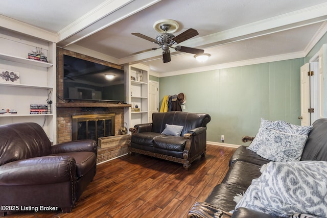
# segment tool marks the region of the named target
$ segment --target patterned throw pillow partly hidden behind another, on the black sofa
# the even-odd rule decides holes
[[[262,139],[268,134],[268,130],[276,130],[283,133],[295,134],[295,135],[307,135],[310,133],[312,126],[298,126],[294,124],[289,124],[283,120],[270,121],[261,118],[261,124],[258,134],[256,134],[252,143],[247,149],[253,152],[258,152],[259,148],[265,146],[265,141]]]

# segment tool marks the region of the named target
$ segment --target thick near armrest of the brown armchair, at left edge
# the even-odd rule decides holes
[[[75,160],[69,156],[42,156],[0,166],[0,185],[38,185],[75,178]]]

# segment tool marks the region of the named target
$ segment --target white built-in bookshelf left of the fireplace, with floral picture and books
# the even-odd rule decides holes
[[[0,114],[0,125],[37,123],[56,144],[56,43],[4,32],[0,44],[0,74],[3,75],[0,77],[0,109],[17,112]],[[34,57],[39,60],[29,59],[38,56],[34,53],[35,47],[41,47],[41,53],[44,54],[44,57]],[[7,80],[7,71],[9,76],[13,72],[19,79]],[[50,101],[51,111],[31,111],[31,104],[46,104]]]

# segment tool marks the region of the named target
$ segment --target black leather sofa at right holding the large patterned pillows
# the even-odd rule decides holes
[[[243,141],[253,138],[246,137]],[[327,118],[314,122],[300,160],[327,161]],[[268,162],[269,160],[246,149],[246,146],[239,147],[229,161],[229,170],[222,183],[212,190],[205,202],[197,202],[188,217],[277,218],[278,216],[242,207],[237,208],[232,214],[228,212],[236,206],[233,197],[244,193],[252,179],[261,176],[261,166]]]

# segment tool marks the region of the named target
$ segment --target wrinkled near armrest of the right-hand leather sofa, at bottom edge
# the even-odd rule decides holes
[[[230,218],[230,216],[231,213],[220,210],[219,208],[206,202],[196,202],[188,214],[188,218]]]

